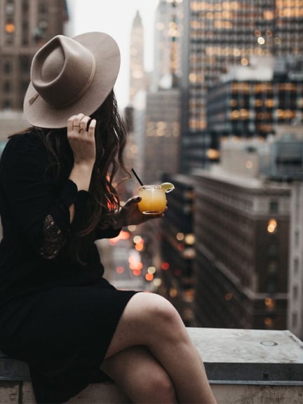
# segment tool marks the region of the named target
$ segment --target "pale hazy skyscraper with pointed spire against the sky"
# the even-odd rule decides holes
[[[142,19],[137,11],[133,20],[130,34],[130,87],[129,99],[133,104],[135,95],[140,90],[145,90],[146,79],[144,72],[144,30]]]

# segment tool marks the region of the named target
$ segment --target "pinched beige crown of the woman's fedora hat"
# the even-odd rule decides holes
[[[94,74],[93,53],[63,35],[46,43],[32,60],[32,85],[54,108],[67,107],[79,100],[86,93]]]

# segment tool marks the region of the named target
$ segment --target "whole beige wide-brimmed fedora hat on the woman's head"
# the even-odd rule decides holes
[[[74,114],[90,115],[114,87],[119,47],[108,34],[54,36],[32,60],[23,111],[40,128],[64,128]]]

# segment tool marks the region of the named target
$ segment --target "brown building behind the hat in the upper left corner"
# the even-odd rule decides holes
[[[0,0],[0,110],[22,110],[32,57],[63,33],[66,0]]]

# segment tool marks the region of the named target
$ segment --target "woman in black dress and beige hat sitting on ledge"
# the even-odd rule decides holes
[[[170,303],[103,277],[94,241],[146,220],[139,197],[119,208],[113,185],[126,143],[119,65],[100,32],[55,36],[33,58],[32,127],[11,137],[0,163],[1,348],[29,364],[38,403],[106,379],[135,403],[215,403]]]

